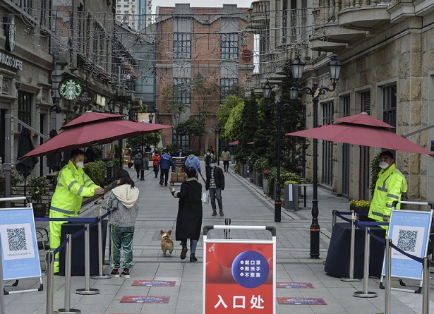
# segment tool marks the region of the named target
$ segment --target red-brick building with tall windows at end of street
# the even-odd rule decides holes
[[[247,8],[236,5],[157,7],[156,108],[162,123],[174,126],[163,131],[163,145],[176,143],[200,152],[215,146],[212,125],[219,104],[232,85],[245,87],[253,74],[247,18]],[[190,116],[205,125],[205,136],[192,143],[188,135],[176,134],[176,126]]]

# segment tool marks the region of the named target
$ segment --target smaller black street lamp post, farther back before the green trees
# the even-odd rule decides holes
[[[270,101],[272,86],[270,82],[265,83],[263,87],[263,97],[265,101]],[[282,111],[287,104],[283,102],[276,102],[272,104],[277,112],[277,178],[276,178],[276,199],[275,199],[275,222],[280,222],[282,219],[282,200],[280,198],[280,121],[282,118]]]

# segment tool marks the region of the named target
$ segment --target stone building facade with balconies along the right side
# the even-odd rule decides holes
[[[327,63],[332,52],[338,54],[339,83],[334,92],[320,96],[318,123],[366,111],[395,126],[399,135],[415,132],[409,140],[434,149],[434,128],[429,128],[434,124],[431,1],[255,1],[251,13],[256,20],[263,17],[255,11],[260,6],[275,14],[270,23],[280,37],[270,37],[269,44],[277,50],[284,47],[280,61],[291,61],[296,54],[306,61],[301,85],[331,86]],[[289,34],[285,45],[279,40],[283,33]],[[276,72],[261,75],[277,77]],[[312,128],[312,98],[302,93],[301,100],[306,104],[306,128]],[[370,200],[370,161],[378,152],[376,147],[320,140],[318,182],[351,199]],[[312,179],[312,145],[306,154],[306,176]],[[409,182],[406,199],[432,200],[433,158],[397,152],[395,159]]]

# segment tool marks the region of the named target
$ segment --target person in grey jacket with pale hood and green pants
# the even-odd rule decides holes
[[[109,227],[111,236],[111,276],[129,278],[133,267],[134,224],[138,215],[139,191],[128,171],[119,169],[116,173],[118,186],[111,190],[107,202],[102,208],[110,212]],[[98,200],[97,203],[101,203]],[[121,250],[123,249],[123,265],[121,268]]]

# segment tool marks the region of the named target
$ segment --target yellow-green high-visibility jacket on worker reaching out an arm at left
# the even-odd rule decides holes
[[[70,160],[59,172],[56,191],[54,191],[50,211],[76,216],[80,212],[83,197],[95,194],[100,188],[89,178],[82,168],[74,166]]]

